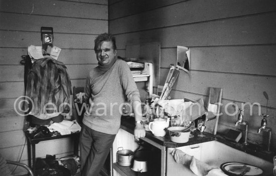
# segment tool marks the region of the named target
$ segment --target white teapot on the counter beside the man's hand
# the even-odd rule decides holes
[[[155,136],[165,136],[169,122],[170,118],[156,118],[153,122],[149,123],[149,129]]]

